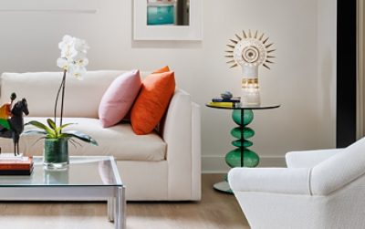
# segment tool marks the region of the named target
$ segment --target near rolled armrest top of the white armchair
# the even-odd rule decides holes
[[[310,195],[309,168],[234,168],[228,182],[234,192]]]

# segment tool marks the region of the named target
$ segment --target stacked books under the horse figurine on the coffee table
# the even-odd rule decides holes
[[[30,175],[33,172],[33,157],[0,155],[0,175]]]

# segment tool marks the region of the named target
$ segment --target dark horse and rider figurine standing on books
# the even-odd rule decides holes
[[[28,115],[28,105],[26,99],[16,102],[13,106],[13,101],[16,99],[16,93],[10,96],[10,103],[6,103],[0,108],[0,137],[13,139],[14,155],[19,155],[19,137],[24,130],[23,113]],[[1,153],[1,148],[0,148]]]

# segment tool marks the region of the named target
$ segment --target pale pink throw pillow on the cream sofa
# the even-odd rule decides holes
[[[126,72],[114,79],[99,104],[99,120],[103,128],[111,127],[124,118],[140,88],[139,70]]]

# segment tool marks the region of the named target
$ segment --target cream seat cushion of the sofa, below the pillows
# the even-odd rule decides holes
[[[47,123],[47,118],[25,117],[25,123],[29,120]],[[120,123],[103,129],[98,119],[63,119],[63,124],[69,122],[77,124],[71,125],[65,128],[65,130],[79,130],[89,134],[99,143],[99,146],[94,146],[78,141],[82,146],[77,147],[69,143],[68,151],[70,155],[112,155],[116,160],[123,161],[165,160],[166,143],[156,132],[147,135],[137,135],[131,130],[129,123]],[[59,120],[57,120],[57,123],[59,125]],[[34,129],[34,127],[27,125],[26,130],[28,129]],[[38,141],[34,144],[36,139],[39,139],[39,136],[22,136],[20,138],[20,151],[25,151],[26,154],[41,155],[43,141]],[[11,151],[11,149],[9,150]]]

